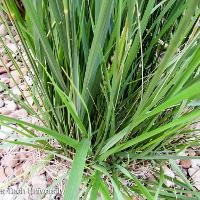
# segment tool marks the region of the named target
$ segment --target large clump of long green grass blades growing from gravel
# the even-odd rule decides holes
[[[11,95],[41,126],[3,115],[0,119],[21,127],[27,135],[24,145],[73,159],[64,199],[78,199],[81,183],[86,186],[84,198],[92,200],[99,194],[119,200],[135,195],[148,200],[186,199],[188,193],[199,199],[175,160],[183,159],[179,152],[199,144],[189,125],[200,116],[200,2],[22,0],[22,4],[23,12],[14,0],[4,0],[0,16],[7,24],[6,13],[23,44],[26,59],[20,56],[30,69],[30,93],[38,111],[26,99]],[[14,66],[21,71],[17,63]],[[56,139],[60,148],[37,131]],[[134,174],[130,166],[136,160],[161,168],[154,181]],[[164,176],[164,161],[179,180]],[[165,179],[175,182],[177,191],[167,188]]]

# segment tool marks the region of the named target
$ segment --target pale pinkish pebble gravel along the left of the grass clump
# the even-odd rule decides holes
[[[33,99],[30,96],[29,88],[32,86],[32,80],[28,73],[27,66],[24,66],[20,59],[20,52],[24,59],[25,53],[22,51],[22,45],[18,36],[11,26],[11,31],[15,36],[17,45],[12,42],[6,28],[0,24],[0,37],[12,53],[15,61],[20,65],[22,75],[19,74],[5,52],[5,48],[0,42],[0,82],[5,84],[11,92],[23,99],[19,88],[30,105],[34,107]],[[11,78],[14,77],[14,80]],[[27,84],[23,80],[26,80]],[[18,88],[19,87],[19,88]],[[24,120],[30,123],[39,123],[37,118],[30,116],[25,109],[17,104],[9,92],[0,86],[0,114],[10,116],[16,119]],[[20,129],[15,124],[7,124]],[[23,139],[22,135],[17,134],[7,126],[0,126],[0,199],[1,200],[48,200],[62,199],[63,183],[57,187],[52,187],[52,183],[66,174],[67,164],[64,161],[51,160],[45,161],[47,154],[32,147],[23,147],[19,145],[10,145],[5,140]],[[65,177],[65,176],[64,176]],[[46,193],[46,195],[45,195]]]

